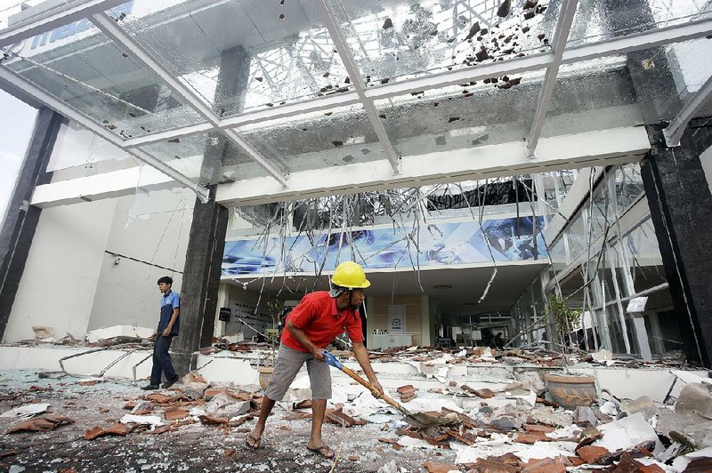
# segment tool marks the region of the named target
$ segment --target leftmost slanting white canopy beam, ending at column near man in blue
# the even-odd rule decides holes
[[[35,97],[37,100],[42,102],[45,106],[52,108],[55,112],[66,116],[67,118],[77,122],[78,124],[81,124],[87,130],[93,132],[100,138],[109,141],[109,143],[116,146],[117,148],[123,149],[129,155],[136,157],[143,163],[155,167],[156,169],[158,169],[158,171],[163,172],[172,179],[182,183],[182,185],[184,185],[185,187],[193,190],[201,200],[207,199],[206,188],[200,186],[194,180],[190,180],[190,178],[186,177],[181,172],[176,171],[171,166],[167,165],[162,161],[159,161],[153,156],[146,154],[140,149],[126,148],[124,140],[122,140],[116,134],[110,132],[100,123],[96,122],[91,116],[86,116],[85,114],[77,111],[75,108],[69,107],[69,105],[67,105],[63,101],[58,100],[48,92],[44,92],[44,90],[40,89],[35,84],[28,82],[24,77],[15,74],[8,68],[0,67],[0,78],[2,78],[5,82],[9,84],[19,87],[24,91],[27,91],[28,93],[32,94],[32,96]]]

